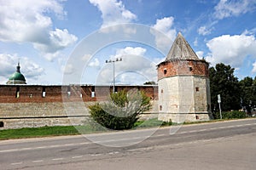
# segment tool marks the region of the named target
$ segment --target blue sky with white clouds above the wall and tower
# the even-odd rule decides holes
[[[0,0],[0,84],[18,62],[27,84],[157,82],[178,32],[210,66],[255,77],[255,17],[256,0]]]

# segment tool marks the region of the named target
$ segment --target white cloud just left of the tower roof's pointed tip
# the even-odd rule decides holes
[[[155,43],[157,48],[160,48],[164,51],[168,51],[171,48],[172,42],[177,36],[177,31],[172,28],[173,21],[174,18],[172,16],[165,17],[163,19],[156,20],[155,25],[152,26],[153,29],[151,29],[150,32],[155,37]],[[160,31],[161,33],[158,31]]]

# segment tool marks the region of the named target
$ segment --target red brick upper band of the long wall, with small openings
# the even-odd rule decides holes
[[[0,85],[0,103],[33,103],[33,102],[65,102],[67,101],[101,101],[108,98],[112,93],[109,86],[44,86],[44,85]],[[151,99],[157,99],[157,86],[116,86],[118,91],[137,88],[144,91]],[[45,90],[45,97],[43,97]],[[19,98],[16,92],[19,91]],[[67,94],[70,91],[70,95]],[[95,97],[91,97],[91,92],[95,92]],[[80,96],[82,94],[82,98]]]

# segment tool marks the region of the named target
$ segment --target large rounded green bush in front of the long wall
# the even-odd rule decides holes
[[[139,114],[151,108],[150,98],[144,93],[124,90],[111,94],[107,102],[91,105],[90,116],[103,127],[114,130],[134,127]]]

